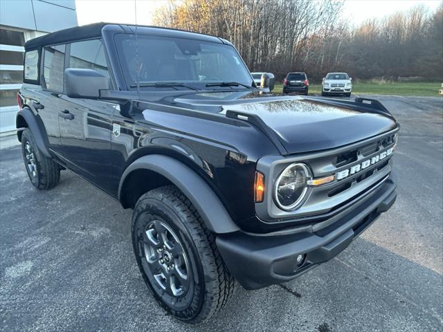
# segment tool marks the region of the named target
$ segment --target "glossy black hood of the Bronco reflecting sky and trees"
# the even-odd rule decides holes
[[[313,99],[235,91],[192,93],[171,102],[174,106],[210,113],[226,114],[230,110],[256,114],[277,134],[289,154],[332,149],[397,127],[389,116]]]

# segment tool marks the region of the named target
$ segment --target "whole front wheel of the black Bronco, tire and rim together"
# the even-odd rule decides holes
[[[235,280],[221,260],[214,234],[177,187],[160,187],[138,199],[132,243],[145,283],[179,320],[208,320],[232,296]]]

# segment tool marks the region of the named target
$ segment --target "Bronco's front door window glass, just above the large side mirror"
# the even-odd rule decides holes
[[[71,53],[69,54],[69,68],[93,69],[109,77],[103,47],[100,39],[72,43]]]

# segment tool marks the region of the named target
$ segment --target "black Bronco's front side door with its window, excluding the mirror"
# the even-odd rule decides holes
[[[73,42],[66,54],[66,68],[89,68],[109,77],[101,39]],[[60,102],[60,135],[67,165],[110,193],[111,118],[116,104],[69,98],[65,94]]]

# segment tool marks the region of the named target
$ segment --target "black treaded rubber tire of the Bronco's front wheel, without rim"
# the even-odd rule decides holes
[[[155,280],[150,281],[154,273],[147,276],[150,273],[150,264],[147,263],[146,249],[143,249],[143,232],[147,232],[146,225],[153,220],[161,221],[177,235],[192,266],[192,290],[189,287],[187,293],[175,299],[176,303],[173,303],[174,297],[167,291],[163,290],[162,293]],[[179,320],[191,324],[209,320],[232,297],[235,279],[221,259],[215,245],[215,236],[206,228],[197,210],[177,187],[159,187],[138,199],[132,214],[132,243],[145,283],[159,304]],[[157,259],[160,261],[160,256]],[[157,271],[159,270],[161,269],[157,267]],[[177,306],[183,308],[178,310]]]

